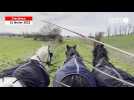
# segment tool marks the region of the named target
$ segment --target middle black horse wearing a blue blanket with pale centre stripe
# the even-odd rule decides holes
[[[66,46],[64,67],[56,72],[54,87],[96,87],[94,76],[86,69],[75,46]]]

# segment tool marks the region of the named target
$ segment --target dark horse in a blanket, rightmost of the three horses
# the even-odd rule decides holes
[[[134,77],[130,74],[114,67],[112,63],[109,62],[108,52],[104,45],[97,44],[93,50],[93,66],[100,69],[101,71],[115,76],[119,79],[126,80],[128,82],[134,83]],[[97,81],[97,86],[101,87],[129,87],[130,85],[124,84],[118,80],[115,80],[109,76],[104,75],[93,69],[93,74]]]

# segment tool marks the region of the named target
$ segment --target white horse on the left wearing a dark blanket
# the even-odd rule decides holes
[[[50,59],[48,59],[48,57]],[[46,68],[43,65],[43,61],[50,64],[48,63],[48,60],[51,60],[51,57],[52,53],[50,54],[48,47],[42,47],[27,62],[2,71],[0,73],[0,77],[1,79],[5,79],[6,77],[14,77],[17,79],[16,82],[19,81],[19,83],[21,83],[22,87],[48,87],[50,78]],[[1,83],[3,84],[1,86],[6,86],[4,83],[5,82]],[[12,84],[13,83],[8,83],[10,86]]]

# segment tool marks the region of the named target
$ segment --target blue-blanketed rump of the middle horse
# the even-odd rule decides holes
[[[79,72],[77,72],[76,66],[71,66],[71,65],[65,66],[62,69],[59,69],[56,72],[53,86],[54,87],[63,86],[63,85],[57,83],[56,81],[62,82],[64,84],[69,83],[66,85],[71,85],[71,86],[75,86],[75,87],[79,87],[79,85],[77,85],[77,83],[75,85],[72,84],[72,82],[75,83],[75,81],[79,82],[78,84],[82,83],[81,86],[86,86],[86,87],[88,87],[88,86],[95,87],[96,86],[96,82],[94,80],[93,74],[82,66],[79,68]]]

